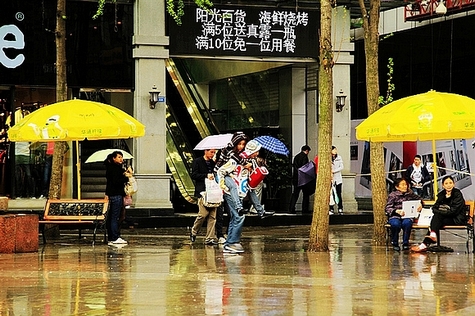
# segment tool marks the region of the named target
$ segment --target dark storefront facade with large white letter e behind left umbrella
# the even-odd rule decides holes
[[[96,9],[95,2],[67,1],[71,98],[101,100],[104,91],[133,89],[133,6],[117,1],[93,20]],[[10,143],[7,130],[28,113],[56,101],[55,12],[56,1],[1,4],[0,195],[37,198],[44,189],[47,144]]]

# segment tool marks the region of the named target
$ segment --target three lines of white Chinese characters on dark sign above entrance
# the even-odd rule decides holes
[[[308,13],[260,10],[250,20],[243,9],[196,8],[201,34],[195,38],[200,51],[246,52],[254,47],[261,53],[287,53],[296,50],[297,29],[309,25]]]

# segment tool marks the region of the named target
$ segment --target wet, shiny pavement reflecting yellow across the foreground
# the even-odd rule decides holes
[[[454,252],[414,254],[371,235],[372,225],[332,225],[331,250],[308,253],[308,225],[245,227],[246,252],[228,255],[203,232],[191,244],[186,228],[123,229],[122,248],[62,232],[38,253],[0,254],[0,315],[475,313],[463,238],[442,232]]]

